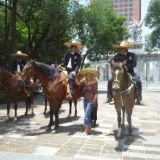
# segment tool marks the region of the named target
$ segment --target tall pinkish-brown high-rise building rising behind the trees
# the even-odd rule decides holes
[[[96,0],[91,0],[94,3]],[[112,3],[118,15],[126,17],[126,25],[129,25],[132,19],[137,22],[141,20],[141,0],[102,0],[104,3]],[[109,4],[108,4],[109,5]]]

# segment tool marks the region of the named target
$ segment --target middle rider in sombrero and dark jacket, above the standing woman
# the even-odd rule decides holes
[[[78,53],[78,49],[82,49],[83,45],[75,40],[64,43],[65,46],[70,48],[64,56],[62,65],[68,72],[69,86],[67,87],[67,99],[71,99],[74,93],[74,77],[78,73],[81,65],[81,55]]]

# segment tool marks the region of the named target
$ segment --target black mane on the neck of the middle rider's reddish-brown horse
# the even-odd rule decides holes
[[[57,70],[51,66],[41,62],[35,62],[35,65],[45,77],[53,78],[57,76]]]

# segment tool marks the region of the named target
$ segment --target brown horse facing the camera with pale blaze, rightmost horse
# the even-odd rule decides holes
[[[112,62],[112,91],[113,91],[113,99],[115,103],[115,108],[117,111],[117,120],[118,120],[118,134],[117,137],[121,137],[122,129],[124,126],[124,116],[125,110],[127,113],[127,121],[129,124],[129,135],[132,133],[132,122],[131,115],[134,107],[134,98],[135,98],[135,86],[132,80],[132,77],[129,73],[127,73],[126,67],[124,63],[115,63]],[[123,112],[123,119],[121,123],[121,110]]]

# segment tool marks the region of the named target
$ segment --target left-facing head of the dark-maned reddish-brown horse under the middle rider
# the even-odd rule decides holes
[[[35,61],[29,61],[23,68],[21,72],[22,77],[32,77],[34,76],[34,63]]]

